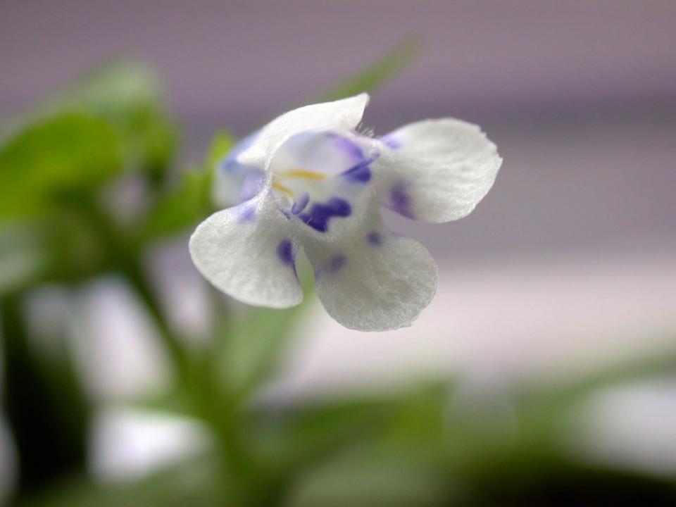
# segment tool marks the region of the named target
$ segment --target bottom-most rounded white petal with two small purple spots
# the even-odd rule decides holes
[[[349,242],[308,242],[304,249],[320,301],[351,329],[411,325],[437,291],[437,265],[427,249],[384,229],[380,217]]]

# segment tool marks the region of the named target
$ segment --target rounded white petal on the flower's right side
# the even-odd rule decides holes
[[[424,120],[387,134],[374,166],[384,204],[397,213],[442,223],[468,215],[488,193],[502,163],[477,125]]]

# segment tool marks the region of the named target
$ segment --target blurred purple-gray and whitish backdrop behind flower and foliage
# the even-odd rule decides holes
[[[482,125],[505,163],[464,220],[388,217],[439,261],[439,293],[413,327],[349,332],[316,305],[281,392],[362,389],[364,378],[392,370],[400,379],[415,365],[502,389],[535,370],[547,377],[672,351],[676,1],[0,0],[0,118],[129,54],[158,70],[184,129],[183,160],[194,161],[216,129],[245,134],[411,35],[425,41],[423,54],[373,97],[365,124],[384,133],[454,115]],[[172,318],[199,327],[204,283],[179,246],[180,269],[170,262],[171,276],[158,279],[173,283]],[[137,391],[161,356],[139,353],[144,327],[134,327],[128,295],[97,287],[83,312],[98,323],[87,336],[89,384]],[[638,456],[676,473],[672,393],[657,412],[600,405],[611,423],[629,423],[601,427],[620,461]],[[627,442],[634,448],[622,454]],[[95,449],[95,472],[105,463]]]

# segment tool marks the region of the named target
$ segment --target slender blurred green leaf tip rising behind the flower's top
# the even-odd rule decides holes
[[[420,41],[414,38],[403,39],[394,49],[380,60],[368,65],[349,77],[337,87],[322,94],[320,99],[332,101],[344,99],[361,92],[375,92],[384,82],[398,74],[411,63],[420,52]]]

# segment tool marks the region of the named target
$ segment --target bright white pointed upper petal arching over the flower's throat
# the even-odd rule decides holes
[[[368,94],[358,94],[347,99],[304,106],[265,125],[251,146],[237,157],[244,165],[265,167],[277,148],[289,137],[311,130],[353,130],[361,122]]]

